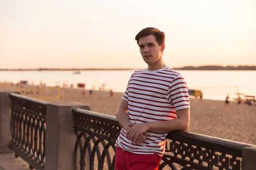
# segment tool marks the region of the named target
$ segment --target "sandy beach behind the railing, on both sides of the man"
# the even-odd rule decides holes
[[[0,83],[0,90],[24,91],[23,95],[42,99],[48,102],[79,102],[90,105],[91,110],[108,115],[115,115],[122,99],[122,93],[113,94],[110,97],[109,91],[93,91],[93,95],[86,91],[82,95],[82,89],[42,87],[41,94],[30,94],[36,86],[23,85],[23,88],[16,85]],[[59,99],[60,96],[62,99]],[[224,109],[224,101],[190,98],[190,127],[189,132],[200,133],[237,142],[256,144],[256,106],[241,105],[237,107],[236,102],[230,102],[230,108]]]

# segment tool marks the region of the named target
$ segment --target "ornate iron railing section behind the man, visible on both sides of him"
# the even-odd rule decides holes
[[[78,159],[80,170],[85,170],[86,166],[90,170],[96,166],[102,170],[104,164],[107,164],[108,170],[113,170],[115,141],[121,130],[116,117],[78,108],[72,112],[77,136],[74,170],[78,169]],[[253,145],[186,131],[171,132],[167,136],[166,152],[159,170],[241,170],[242,149],[247,146]],[[110,150],[111,147],[113,150]],[[89,166],[86,160],[89,160]]]

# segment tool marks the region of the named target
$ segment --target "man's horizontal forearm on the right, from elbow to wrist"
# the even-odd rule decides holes
[[[171,132],[175,130],[188,130],[189,122],[182,119],[172,119],[167,121],[147,122],[148,130]]]

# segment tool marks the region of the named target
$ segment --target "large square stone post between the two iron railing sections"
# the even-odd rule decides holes
[[[75,102],[47,104],[45,170],[72,170],[74,143],[73,108],[90,111],[90,106]]]

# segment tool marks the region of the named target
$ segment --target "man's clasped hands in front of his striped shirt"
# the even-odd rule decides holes
[[[143,143],[147,139],[148,125],[146,123],[128,123],[130,128],[126,132],[126,139],[130,139],[135,144]]]

